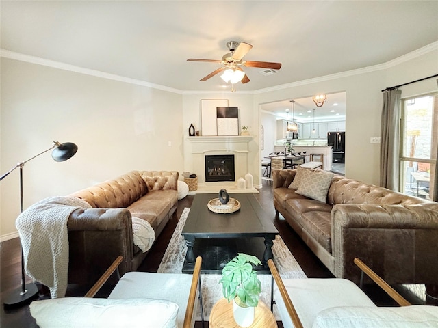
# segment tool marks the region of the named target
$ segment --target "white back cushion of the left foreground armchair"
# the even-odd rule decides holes
[[[40,328],[177,327],[178,305],[170,301],[67,297],[34,301],[31,315]]]

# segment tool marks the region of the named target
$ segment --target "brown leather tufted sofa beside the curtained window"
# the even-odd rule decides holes
[[[335,175],[326,203],[273,171],[274,206],[338,278],[359,282],[361,258],[389,284],[438,284],[438,203]]]

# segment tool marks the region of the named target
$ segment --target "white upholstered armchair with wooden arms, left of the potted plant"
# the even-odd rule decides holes
[[[31,315],[40,328],[57,327],[194,327],[194,311],[200,301],[201,257],[193,275],[183,273],[128,272],[107,299],[94,299],[96,292],[116,271],[119,256],[85,297],[34,301]]]

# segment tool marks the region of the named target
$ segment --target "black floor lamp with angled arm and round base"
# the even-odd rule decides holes
[[[44,150],[44,152],[48,152],[49,150],[53,149],[52,152],[52,158],[57,162],[63,162],[68,159],[70,159],[74,154],[77,152],[77,146],[75,143],[66,142],[66,143],[59,143],[57,141],[53,141],[53,145],[51,148]],[[0,181],[3,180],[8,174],[10,174],[14,169],[17,167],[20,167],[20,213],[23,212],[23,166],[25,166],[25,163],[28,161],[31,161],[32,159],[40,156],[41,154],[44,154],[44,152],[40,152],[40,154],[35,155],[31,159],[28,159],[27,161],[17,163],[12,169],[10,169],[8,172],[3,174],[3,176],[0,177]],[[20,247],[21,248],[21,247]],[[30,299],[33,299],[38,294],[38,288],[35,284],[25,284],[25,264],[23,260],[23,249],[21,248],[21,290],[14,290],[14,292],[9,295],[9,297],[6,297],[3,304],[5,306],[19,306],[23,305]]]

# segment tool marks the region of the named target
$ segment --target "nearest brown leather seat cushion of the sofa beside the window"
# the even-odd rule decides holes
[[[306,212],[302,214],[300,222],[302,228],[307,230],[331,254],[331,213],[319,211]]]

